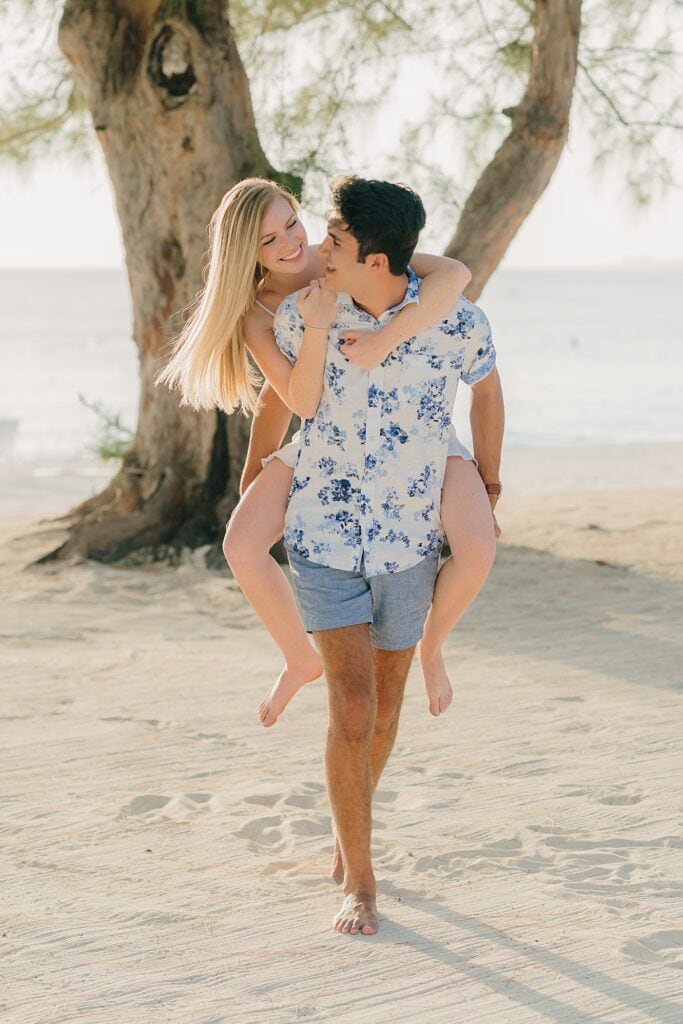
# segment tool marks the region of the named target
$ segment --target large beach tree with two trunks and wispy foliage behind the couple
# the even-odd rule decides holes
[[[628,41],[638,5],[635,0],[618,0],[618,5],[627,9],[622,37]],[[327,60],[323,66],[318,61],[312,75],[296,81],[292,90],[282,89],[274,99],[270,95],[271,125],[281,137],[292,137],[293,122],[299,126],[294,133],[299,152],[290,154],[288,170],[279,172],[259,140],[250,82],[224,0],[65,0],[58,41],[73,81],[65,84],[62,79],[61,91],[54,89],[47,110],[41,106],[44,91],[33,103],[15,106],[12,117],[5,118],[0,142],[6,151],[13,148],[14,159],[20,158],[46,132],[63,133],[87,110],[106,161],[126,251],[140,406],[121,469],[101,494],[70,513],[69,539],[49,557],[112,561],[140,548],[159,551],[219,539],[238,498],[248,422],[237,415],[180,409],[175,394],[154,386],[170,329],[179,329],[177,313],[202,287],[206,225],[224,191],[245,176],[265,175],[295,190],[302,179],[319,176],[326,169],[323,140],[360,98],[354,82],[362,80],[369,51],[381,92],[397,63],[387,60],[387,54],[403,53],[409,59],[416,39],[432,54],[439,46],[443,52],[441,8],[438,3],[417,7],[410,0],[230,5],[241,27],[241,45],[256,69],[254,80],[266,90],[264,108],[267,78],[258,78],[259,58],[272,60],[291,52],[293,45],[301,47],[312,31],[318,33],[319,52]],[[424,20],[413,28],[418,10]],[[580,63],[582,0],[505,0],[495,23],[477,4],[474,12],[479,24],[466,45],[475,52],[483,25],[487,53],[517,83],[513,94],[520,98],[497,109],[496,90],[480,80],[477,91],[477,83],[470,81],[478,106],[475,102],[463,114],[442,105],[438,112],[455,120],[464,138],[474,126],[480,139],[482,125],[497,136],[495,146],[481,147],[487,153],[493,148],[493,155],[464,203],[446,250],[472,268],[471,298],[480,293],[543,194],[565,144]],[[454,3],[449,14],[462,19],[463,33],[472,20],[471,5]],[[344,28],[346,35],[339,34]],[[340,39],[350,40],[341,54]],[[656,45],[647,52],[648,69],[652,53],[666,62],[667,52]],[[449,66],[457,63],[452,56]],[[590,52],[586,61],[590,79]],[[653,80],[658,81],[656,74]],[[620,114],[623,127],[649,132],[651,143],[655,121],[649,115],[640,125],[636,118],[629,121],[600,83],[594,84]],[[649,97],[632,96],[631,110],[642,113],[647,103]],[[668,125],[674,118],[675,112],[668,110],[661,120]],[[505,119],[509,124],[503,132]],[[436,130],[434,118],[427,124]],[[421,131],[424,125],[413,130],[414,144]],[[272,133],[270,141],[280,148],[278,159],[287,161],[287,147],[279,147]],[[452,185],[452,179],[446,183]],[[449,195],[449,215],[455,220],[453,188]]]

